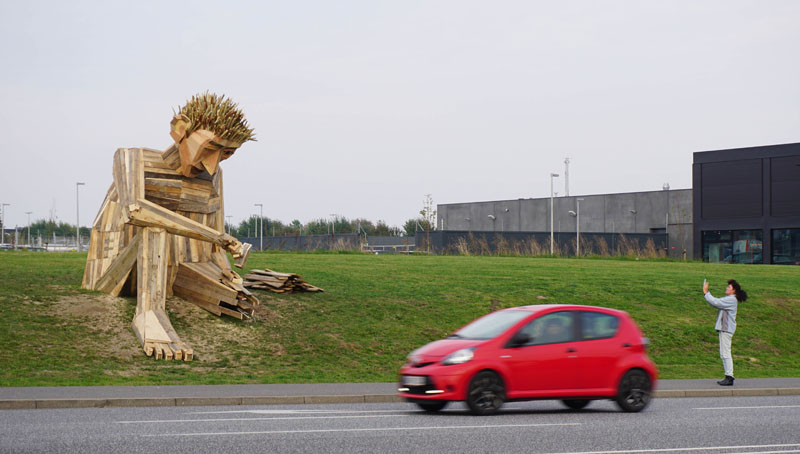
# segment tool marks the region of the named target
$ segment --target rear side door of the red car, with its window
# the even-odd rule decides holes
[[[604,389],[614,386],[614,371],[625,353],[619,340],[621,320],[611,314],[578,311],[580,342],[576,346],[576,387]]]

